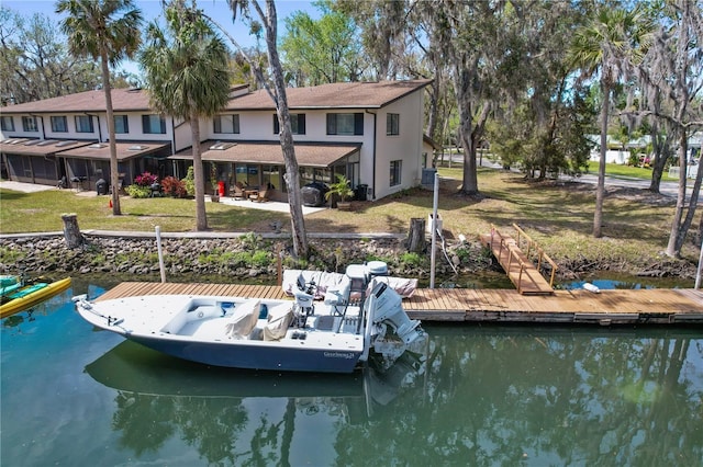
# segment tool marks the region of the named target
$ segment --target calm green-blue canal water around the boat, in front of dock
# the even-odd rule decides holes
[[[1,322],[2,466],[703,458],[701,328],[426,326],[420,374],[408,362],[389,375],[281,375],[189,364],[94,331],[69,303],[86,287]]]

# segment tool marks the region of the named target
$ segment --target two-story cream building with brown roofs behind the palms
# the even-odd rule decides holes
[[[323,84],[287,89],[301,186],[346,175],[364,198],[420,183],[432,160],[423,138],[428,80]],[[226,109],[200,122],[203,161],[219,181],[275,189],[284,201],[278,119],[264,90],[234,88]],[[112,93],[119,171],[125,184],[144,171],[182,178],[192,164],[190,126],[155,114],[145,90]],[[93,187],[109,180],[104,94],[88,91],[0,110],[0,152],[11,180]],[[210,173],[205,170],[205,173]]]

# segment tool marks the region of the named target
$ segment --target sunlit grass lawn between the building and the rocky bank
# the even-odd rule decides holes
[[[481,169],[480,200],[456,194],[460,169],[440,169],[439,213],[445,235],[478,241],[492,225],[510,230],[518,224],[557,262],[594,263],[595,267],[627,270],[662,261],[673,200],[632,189],[609,189],[604,206],[604,237],[591,237],[595,190],[566,182],[528,182],[520,174]],[[60,231],[62,213],[77,213],[81,229],[192,231],[194,202],[175,198],[122,198],[123,216],[112,216],[107,196],[85,196],[71,191],[18,193],[0,190],[2,234]],[[325,209],[305,216],[311,232],[401,232],[413,217],[427,218],[433,194],[411,190],[379,202],[355,203],[354,212]],[[215,231],[271,231],[279,221],[289,229],[287,214],[207,203],[208,221]],[[698,224],[698,217],[695,224]],[[698,261],[698,248],[688,241],[684,259]]]

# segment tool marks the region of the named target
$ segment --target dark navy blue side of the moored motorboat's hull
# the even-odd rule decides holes
[[[247,341],[179,342],[134,334],[127,334],[125,338],[178,358],[232,368],[352,373],[361,356],[360,351],[274,348]]]

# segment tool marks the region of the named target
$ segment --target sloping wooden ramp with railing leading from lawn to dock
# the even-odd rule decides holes
[[[551,295],[554,288],[535,267],[529,258],[520,249],[518,242],[511,236],[491,229],[491,234],[481,236],[481,243],[490,248],[511,282],[522,295]]]

